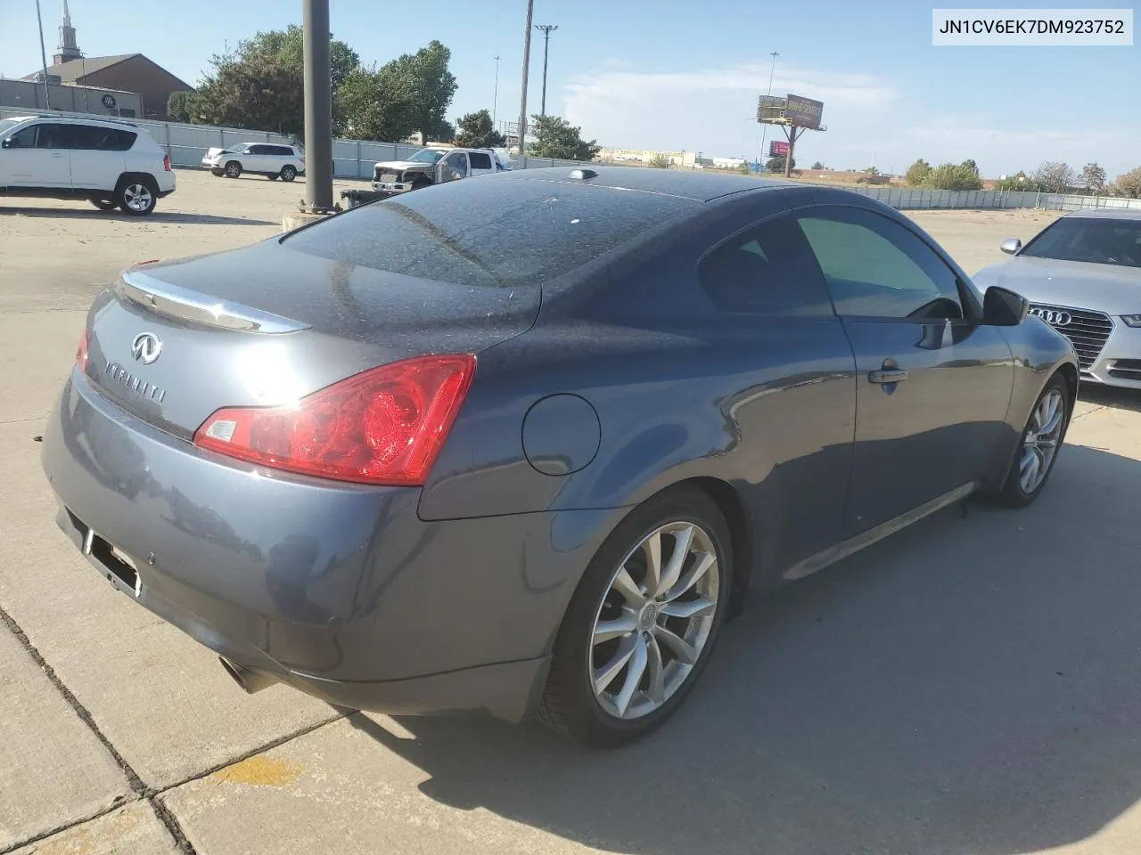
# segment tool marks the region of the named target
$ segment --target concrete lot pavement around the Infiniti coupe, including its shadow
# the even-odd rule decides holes
[[[754,601],[628,749],[243,694],[58,534],[34,438],[99,283],[272,236],[292,196],[179,173],[143,223],[0,206],[0,853],[1141,852],[1141,396],[1084,396],[1031,508]],[[1042,217],[916,213],[971,271]]]

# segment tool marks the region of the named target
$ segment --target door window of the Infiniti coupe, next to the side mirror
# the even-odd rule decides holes
[[[887,217],[815,207],[798,218],[836,314],[944,320],[964,317],[958,278],[931,247]]]

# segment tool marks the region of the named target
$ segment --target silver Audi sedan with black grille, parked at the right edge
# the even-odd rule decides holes
[[[1075,211],[1002,251],[1014,258],[974,275],[982,291],[1025,296],[1074,343],[1084,381],[1141,389],[1141,211]]]

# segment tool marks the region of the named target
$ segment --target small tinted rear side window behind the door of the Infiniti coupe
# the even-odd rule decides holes
[[[697,268],[702,287],[726,311],[832,315],[811,251],[791,214],[761,222],[722,243]]]

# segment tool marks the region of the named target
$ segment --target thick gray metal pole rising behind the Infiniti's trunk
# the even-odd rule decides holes
[[[301,210],[333,210],[333,97],[329,0],[301,0],[305,51],[305,198]]]

